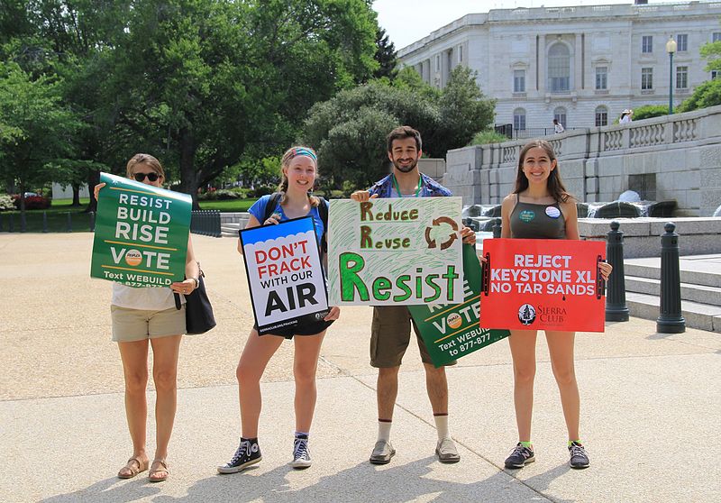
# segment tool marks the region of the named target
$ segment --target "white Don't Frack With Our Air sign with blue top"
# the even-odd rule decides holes
[[[328,315],[328,297],[313,218],[240,232],[259,334]]]

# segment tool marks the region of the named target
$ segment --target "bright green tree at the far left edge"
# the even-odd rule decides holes
[[[0,123],[10,132],[0,139],[0,176],[19,187],[24,212],[29,187],[72,169],[81,123],[60,103],[57,81],[32,80],[13,62],[0,63]]]

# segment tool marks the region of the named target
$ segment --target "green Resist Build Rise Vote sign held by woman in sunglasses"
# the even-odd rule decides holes
[[[100,173],[90,276],[129,287],[168,287],[185,277],[192,199]]]

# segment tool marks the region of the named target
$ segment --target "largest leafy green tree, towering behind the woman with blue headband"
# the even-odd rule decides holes
[[[363,0],[139,0],[112,57],[117,130],[177,163],[195,196],[244,152],[282,151],[311,105],[367,78],[375,30]]]

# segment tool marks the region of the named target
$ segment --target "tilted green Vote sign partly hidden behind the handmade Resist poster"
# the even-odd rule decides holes
[[[508,336],[480,324],[480,263],[473,246],[463,246],[463,301],[408,306],[431,360],[440,367]]]

